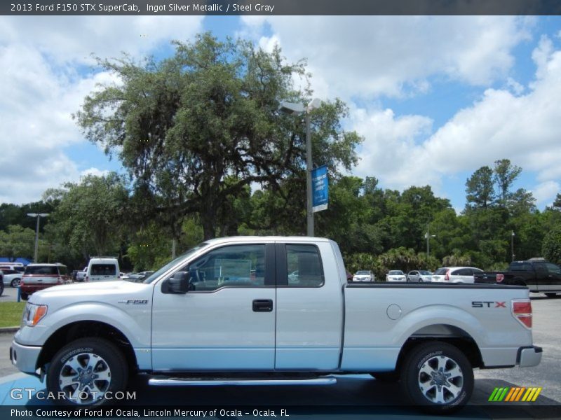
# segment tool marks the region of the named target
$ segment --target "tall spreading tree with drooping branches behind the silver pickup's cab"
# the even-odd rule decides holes
[[[292,82],[308,74],[279,48],[265,52],[248,41],[202,34],[174,45],[175,55],[161,62],[99,60],[122,83],[86,97],[76,118],[90,141],[119,150],[144,218],[165,215],[177,235],[182,218],[198,214],[208,239],[230,232],[224,216],[252,183],[282,194],[292,176],[305,188],[305,127],[279,107],[309,102],[311,92]],[[331,174],[356,162],[360,138],[342,130],[346,114],[339,100],[311,113],[314,162]]]

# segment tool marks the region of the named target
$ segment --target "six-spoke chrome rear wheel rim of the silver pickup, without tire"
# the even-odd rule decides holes
[[[419,389],[429,402],[447,404],[455,400],[464,388],[464,373],[448,356],[434,356],[421,365]]]

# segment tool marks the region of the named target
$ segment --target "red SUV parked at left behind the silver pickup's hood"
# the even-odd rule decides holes
[[[29,264],[20,281],[20,296],[27,300],[29,295],[38,290],[71,282],[66,265]]]

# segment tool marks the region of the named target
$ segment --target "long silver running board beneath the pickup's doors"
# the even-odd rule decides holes
[[[332,376],[308,379],[202,379],[202,378],[150,378],[149,385],[153,386],[222,386],[222,385],[332,385],[337,379]]]

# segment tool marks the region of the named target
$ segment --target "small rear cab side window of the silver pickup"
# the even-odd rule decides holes
[[[289,287],[323,286],[323,268],[315,245],[286,245]]]

